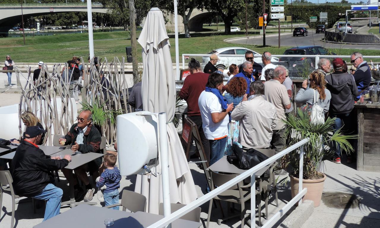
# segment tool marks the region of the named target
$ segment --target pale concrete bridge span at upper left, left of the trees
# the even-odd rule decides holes
[[[100,3],[92,4],[92,12],[107,13]],[[24,19],[46,14],[87,12],[87,3],[36,3],[22,4]],[[8,30],[21,21],[21,4],[0,4],[0,34],[8,36]]]

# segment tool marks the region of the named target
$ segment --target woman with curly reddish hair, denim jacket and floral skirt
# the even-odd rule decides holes
[[[227,99],[228,104],[234,103],[234,107],[238,105],[247,91],[247,82],[242,77],[234,77],[228,83],[230,93],[226,93],[224,97]],[[225,155],[233,155],[232,145],[239,140],[239,121],[231,120],[228,124],[227,146],[224,152]]]

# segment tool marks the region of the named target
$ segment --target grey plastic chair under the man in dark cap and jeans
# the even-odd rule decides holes
[[[2,204],[3,204],[3,193],[7,193],[8,195],[11,195],[12,197],[12,220],[11,220],[11,228],[13,228],[13,222],[14,222],[14,208],[16,206],[15,200],[20,198],[18,195],[14,194],[13,190],[13,179],[11,176],[11,173],[6,171],[0,171],[0,217],[1,217],[1,211],[2,211]],[[6,185],[8,185],[6,187]],[[46,201],[45,201],[46,202]],[[33,212],[36,213],[35,209],[35,203],[34,198],[32,198],[33,203]]]

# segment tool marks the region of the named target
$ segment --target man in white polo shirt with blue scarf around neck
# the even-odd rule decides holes
[[[222,88],[223,75],[214,72],[209,75],[206,90],[198,99],[203,132],[210,142],[210,165],[223,157],[227,143],[228,113],[233,109],[233,103],[227,104],[220,93]]]

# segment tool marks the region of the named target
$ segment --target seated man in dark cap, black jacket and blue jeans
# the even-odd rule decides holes
[[[71,161],[70,155],[50,157],[37,146],[45,131],[39,126],[30,126],[24,140],[17,147],[12,159],[11,175],[14,192],[19,196],[46,200],[44,221],[59,214],[62,189],[54,186],[51,171],[60,170]]]

